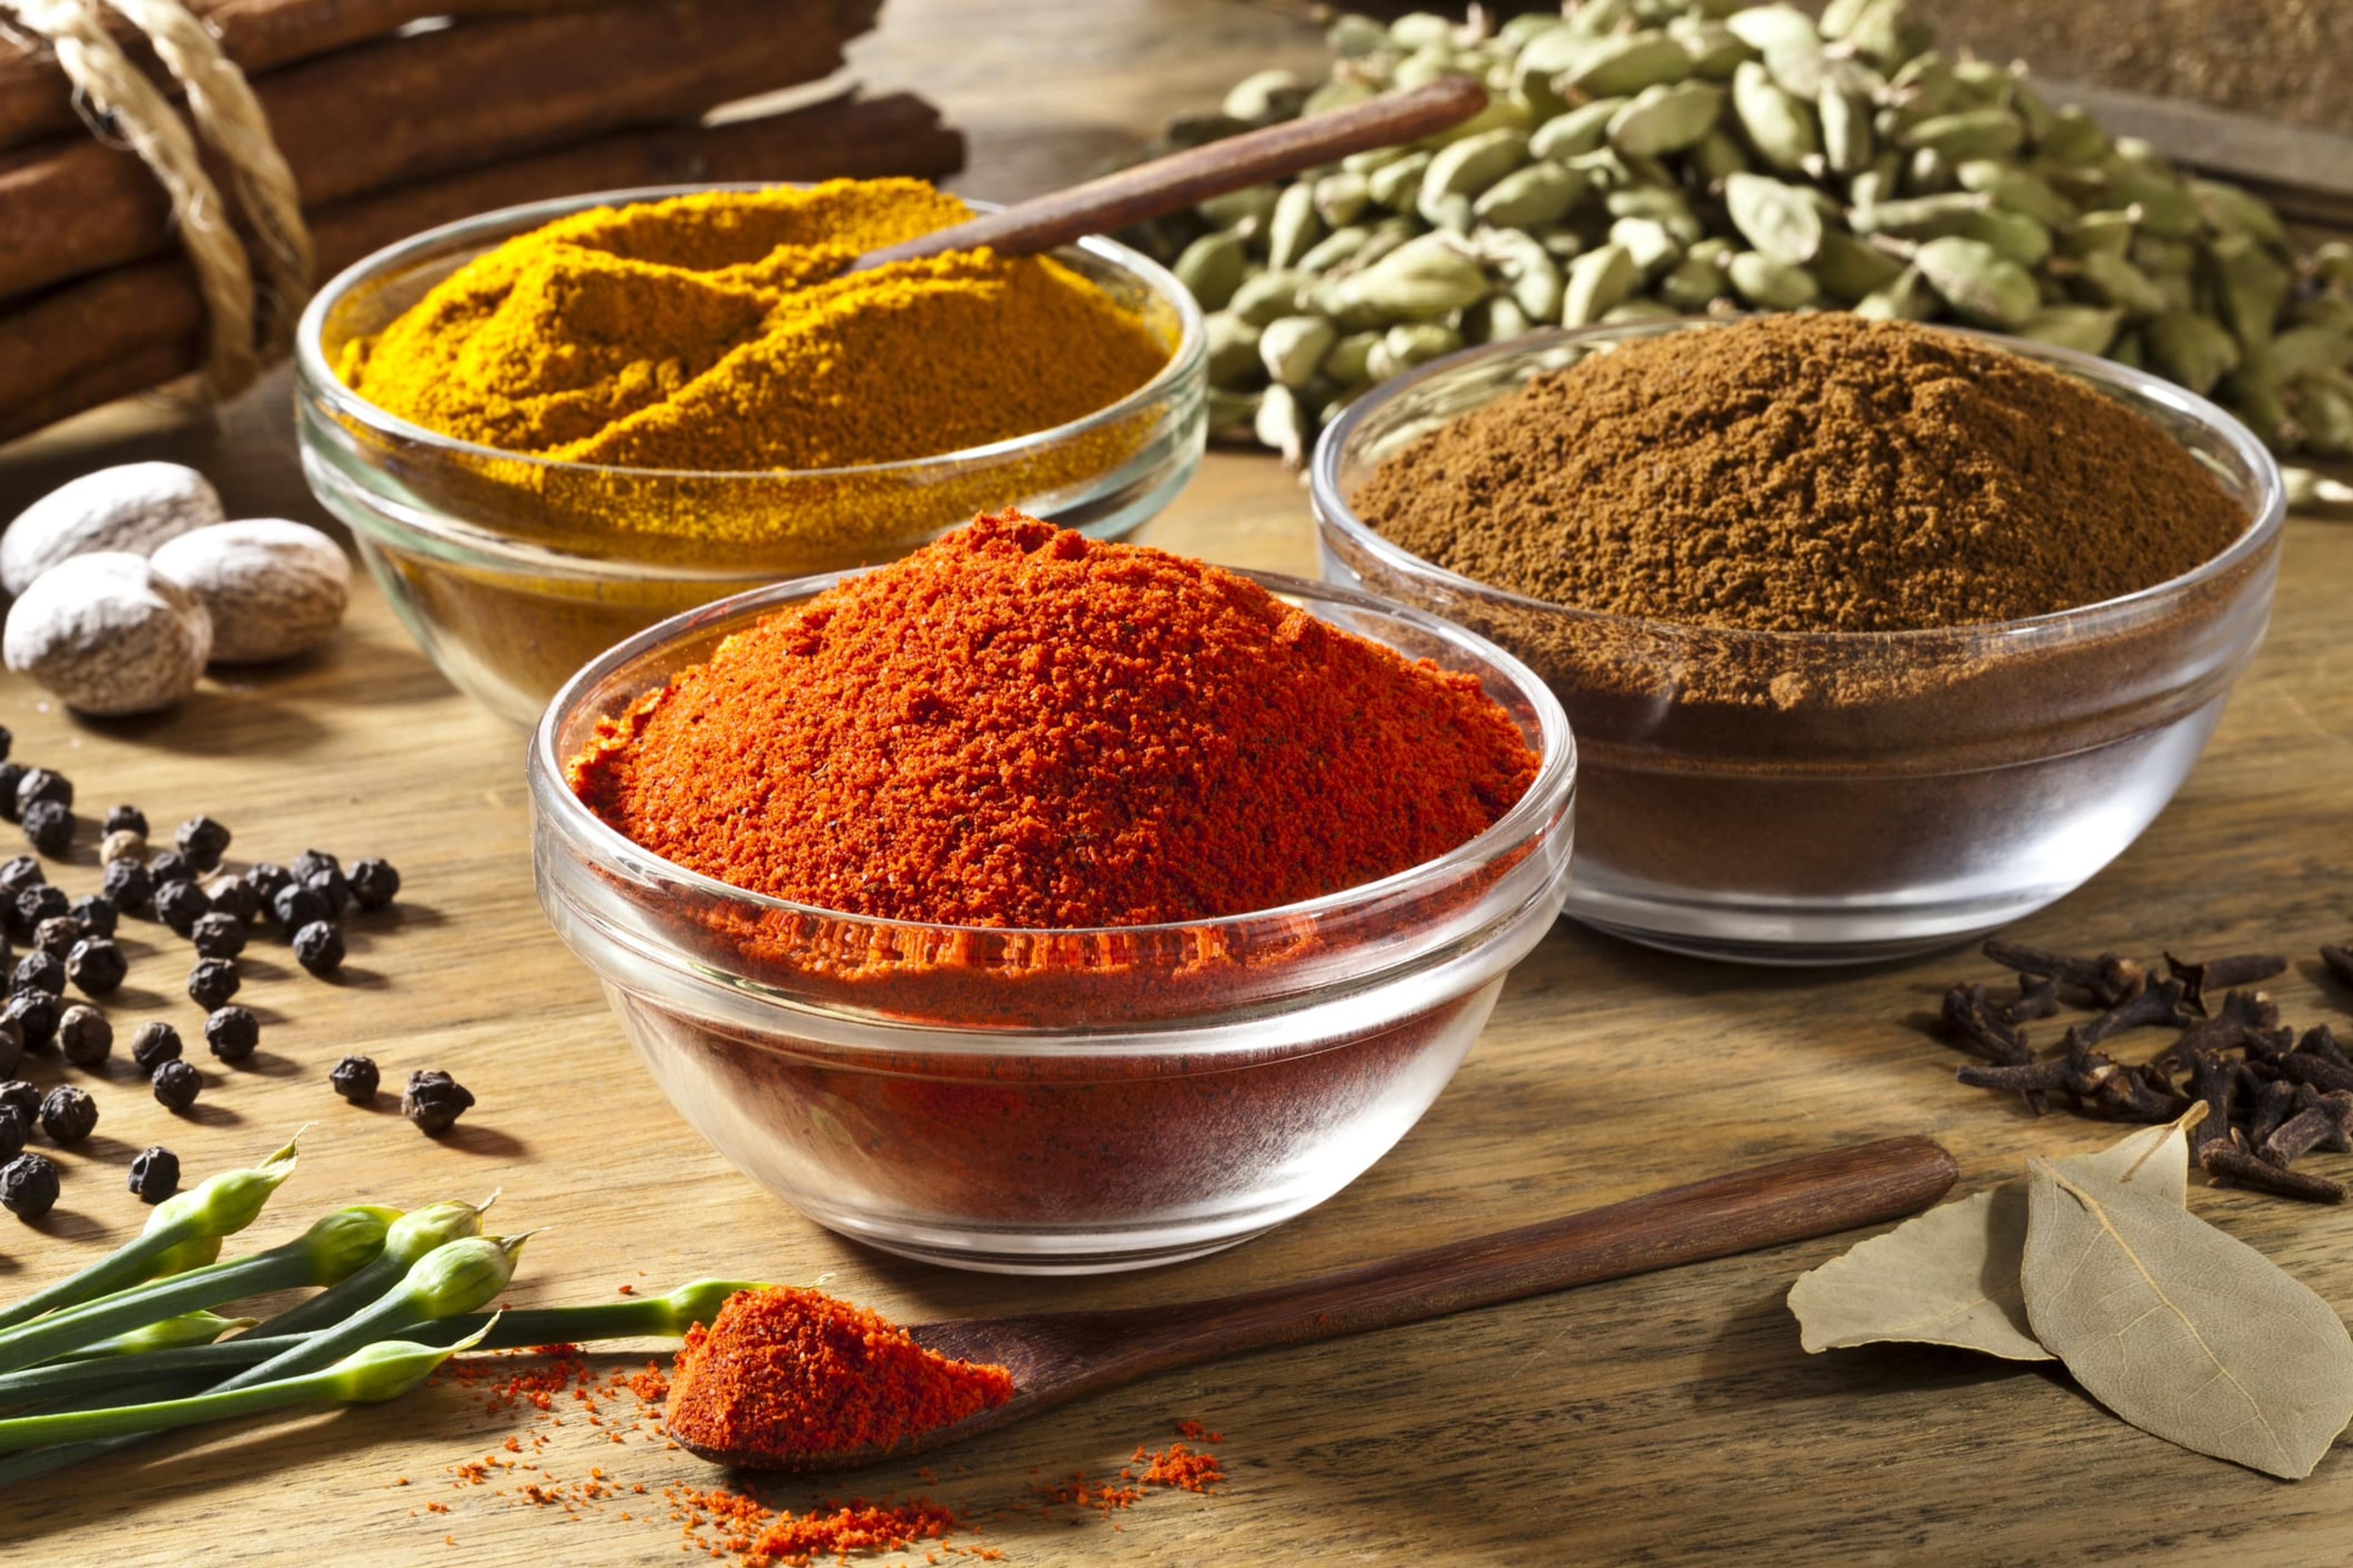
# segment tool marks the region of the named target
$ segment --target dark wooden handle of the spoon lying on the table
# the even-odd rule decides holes
[[[1125,1380],[1875,1225],[1934,1204],[1958,1175],[1934,1140],[1885,1138],[1252,1295],[1073,1316],[1094,1319]]]

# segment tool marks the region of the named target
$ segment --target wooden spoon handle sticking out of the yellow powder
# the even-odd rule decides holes
[[[1487,89],[1466,75],[1424,82],[1412,92],[1391,92],[1348,108],[1334,108],[1304,120],[1285,120],[1259,132],[1169,153],[1153,162],[1120,169],[1085,186],[1016,202],[969,223],[941,228],[915,240],[866,252],[847,270],[861,273],[887,261],[913,261],[946,252],[969,252],[981,244],[1000,256],[1035,256],[1068,244],[1080,235],[1122,223],[1155,219],[1226,190],[1313,169],[1348,153],[1398,146],[1449,125],[1461,125],[1487,106]]]

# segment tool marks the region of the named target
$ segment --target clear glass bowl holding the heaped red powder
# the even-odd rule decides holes
[[[1560,917],[1577,750],[1544,682],[1471,632],[1346,588],[1245,574],[1475,675],[1541,755],[1478,839],[1344,893],[1094,931],[929,926],[746,893],[593,816],[565,762],[732,630],[840,574],[612,649],[529,752],[532,863],[671,1103],[819,1225],[967,1269],[1101,1272],[1209,1253],[1320,1204],[1428,1110],[1504,973]]]

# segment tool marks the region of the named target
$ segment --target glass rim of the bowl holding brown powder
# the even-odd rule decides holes
[[[1435,581],[1454,590],[1473,592],[1492,604],[1506,604],[1511,609],[1539,611],[1555,618],[1569,621],[1593,621],[1621,628],[1635,628],[1654,637],[1706,637],[1727,644],[1748,642],[1753,646],[1828,646],[1828,649],[1859,649],[1859,646],[1934,646],[1955,642],[1981,642],[1981,639],[2033,639],[2049,635],[2082,635],[2085,630],[2099,630],[2108,621],[2122,621],[2134,611],[2162,607],[2165,602],[2181,597],[2198,585],[2214,581],[2228,571],[2235,571],[2245,562],[2261,555],[2271,541],[2287,527],[2287,487],[2280,480],[2280,463],[2271,456],[2257,435],[2240,423],[2233,414],[2217,407],[2214,402],[2191,393],[2184,386],[2174,386],[2162,376],[2134,369],[2129,364],[2118,364],[2115,360],[2101,360],[2099,355],[2087,355],[2073,348],[2059,348],[2057,343],[2038,343],[2033,339],[2019,339],[2000,331],[1984,331],[1977,327],[1953,327],[1946,322],[1929,324],[1932,331],[1953,331],[1969,339],[1981,339],[2026,360],[2049,362],[2061,369],[2071,369],[2085,381],[2125,386],[2134,393],[2160,402],[2174,414],[2198,423],[2214,435],[2219,435],[2231,451],[2247,465],[2257,482],[2257,505],[2247,527],[2233,538],[2219,555],[2191,567],[2179,576],[2169,576],[2162,583],[2151,583],[2127,595],[2113,599],[2097,599],[2092,604],[2075,604],[2071,609],[2057,609],[2040,616],[2024,616],[2017,621],[1972,621],[1965,625],[1922,625],[1897,632],[1774,632],[1755,630],[1741,625],[1706,625],[1699,621],[1657,621],[1649,616],[1617,616],[1605,609],[1584,609],[1577,604],[1553,604],[1551,599],[1534,599],[1511,588],[1499,588],[1494,583],[1482,583],[1473,576],[1449,571],[1438,562],[1424,559],[1402,545],[1384,538],[1362,517],[1355,515],[1339,496],[1339,458],[1351,444],[1358,428],[1372,418],[1379,409],[1395,402],[1398,397],[1421,388],[1428,381],[1438,381],[1449,371],[1471,369],[1473,364],[1485,364],[1489,360],[1508,360],[1518,355],[1534,355],[1541,350],[1560,348],[1567,343],[1614,343],[1645,336],[1664,336],[1668,331],[1682,331],[1692,327],[1729,327],[1744,320],[1760,320],[1762,313],[1744,315],[1680,315],[1673,320],[1647,320],[1647,322],[1602,322],[1595,327],[1546,327],[1515,339],[1504,339],[1501,343],[1480,343],[1475,348],[1464,348],[1428,364],[1419,364],[1412,371],[1386,381],[1372,393],[1365,393],[1351,402],[1339,418],[1334,418],[1322,437],[1315,442],[1315,454],[1308,461],[1308,505],[1315,510],[1320,522],[1339,529],[1351,543],[1374,555],[1388,569],[1407,578]],[[1480,404],[1485,407],[1485,404]]]

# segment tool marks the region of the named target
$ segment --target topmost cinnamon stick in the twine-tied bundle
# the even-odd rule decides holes
[[[553,12],[595,0],[188,0],[212,24],[221,52],[247,75],[381,38],[426,16]],[[172,85],[146,35],[101,7],[106,28],[141,71]],[[0,150],[75,129],[73,85],[47,49],[0,42]]]

